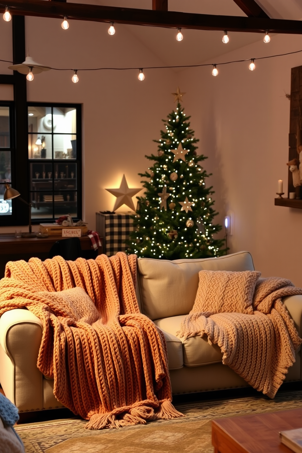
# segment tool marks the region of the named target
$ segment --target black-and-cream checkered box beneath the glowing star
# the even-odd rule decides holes
[[[104,238],[104,253],[107,256],[124,252],[127,248],[125,241],[134,230],[132,213],[119,212],[117,214],[96,213],[96,229]]]

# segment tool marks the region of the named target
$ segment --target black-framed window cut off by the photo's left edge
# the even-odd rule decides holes
[[[15,161],[14,102],[0,101],[0,225],[14,223],[11,200],[5,201],[5,183],[12,183]]]

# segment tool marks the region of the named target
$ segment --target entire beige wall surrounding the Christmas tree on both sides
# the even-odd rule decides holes
[[[38,62],[53,67],[152,66],[164,64],[140,43],[131,27],[120,25],[115,36],[106,24],[26,18],[27,46]],[[48,37],[51,36],[52,39]],[[232,34],[231,39],[238,39]],[[218,63],[299,50],[296,36],[273,36],[236,52]],[[225,50],[225,48],[224,48]],[[77,102],[83,105],[83,220],[95,228],[95,212],[113,209],[115,197],[105,188],[119,187],[123,173],[129,187],[140,187],[139,172],[148,168],[145,154],[155,152],[162,118],[173,109],[179,85],[187,94],[183,106],[192,115],[191,125],[200,138],[200,150],[208,156],[204,167],[215,190],[217,221],[234,213],[230,252],[248,250],[263,276],[278,275],[302,286],[298,258],[302,249],[302,210],[275,207],[277,181],[287,187],[289,101],[291,67],[302,64],[302,54],[248,63],[182,72],[144,71],[49,71],[28,82],[29,101]],[[135,198],[134,198],[135,201]],[[125,206],[121,209],[125,210]],[[12,231],[15,227],[1,232]],[[24,227],[24,231],[26,227]]]

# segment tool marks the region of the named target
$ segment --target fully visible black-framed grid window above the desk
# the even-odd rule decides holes
[[[29,200],[33,223],[81,212],[81,105],[28,103]]]

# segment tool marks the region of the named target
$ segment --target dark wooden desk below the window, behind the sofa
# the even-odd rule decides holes
[[[0,278],[4,277],[5,265],[8,261],[25,260],[36,256],[40,260],[46,260],[51,246],[62,239],[62,236],[37,237],[14,237],[12,233],[0,234]],[[91,250],[91,240],[88,236],[81,236],[81,249]],[[102,253],[101,247],[98,254]]]

